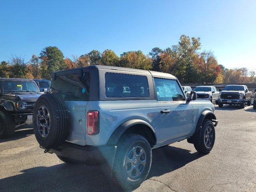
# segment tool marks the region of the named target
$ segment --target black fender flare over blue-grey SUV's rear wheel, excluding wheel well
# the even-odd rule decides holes
[[[122,134],[128,130],[128,128],[134,126],[134,125],[146,125],[150,128],[150,130],[154,133],[154,137],[155,140],[157,142],[157,137],[156,137],[156,133],[154,128],[146,121],[141,120],[141,119],[132,119],[132,120],[128,120],[122,124],[120,124],[120,126],[118,126],[118,128],[116,128],[116,130],[114,130],[114,132],[112,133],[112,135],[110,136],[108,143],[109,145],[114,145],[117,144],[119,138],[122,136]],[[155,142],[155,144],[156,144]]]

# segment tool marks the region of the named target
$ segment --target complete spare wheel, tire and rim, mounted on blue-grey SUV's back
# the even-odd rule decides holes
[[[42,94],[33,112],[36,140],[43,148],[60,146],[68,136],[68,111],[61,96]]]

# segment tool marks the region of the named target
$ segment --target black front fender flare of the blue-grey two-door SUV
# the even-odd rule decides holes
[[[189,143],[194,143],[196,142],[196,140],[198,139],[199,137],[199,144],[200,144],[200,138],[201,138],[201,130],[202,130],[202,124],[204,122],[204,119],[209,119],[211,120],[214,124],[214,126],[217,126],[218,124],[218,120],[214,114],[214,112],[210,111],[210,110],[204,110],[202,112],[202,114],[200,115],[200,117],[198,118],[198,122],[197,122],[197,125],[196,125],[196,130],[193,134],[193,136],[191,136],[190,138],[188,138],[188,142]]]

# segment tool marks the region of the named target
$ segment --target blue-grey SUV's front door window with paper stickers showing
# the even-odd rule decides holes
[[[184,95],[176,80],[154,78],[158,101],[184,101]]]

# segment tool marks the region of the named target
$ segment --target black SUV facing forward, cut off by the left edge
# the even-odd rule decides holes
[[[32,124],[34,104],[40,95],[34,80],[0,78],[0,138],[12,136],[18,125]]]

